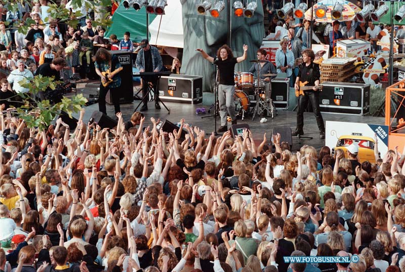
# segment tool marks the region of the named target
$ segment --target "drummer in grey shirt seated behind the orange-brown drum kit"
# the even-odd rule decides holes
[[[277,70],[271,61],[266,60],[266,50],[259,48],[257,50],[257,59],[261,62],[254,62],[249,69],[249,73],[252,73],[258,79],[264,80],[264,92],[266,98],[270,98],[270,80],[273,77],[263,76],[264,74],[277,74]],[[260,65],[260,66],[259,66]],[[259,74],[259,75],[258,75]]]

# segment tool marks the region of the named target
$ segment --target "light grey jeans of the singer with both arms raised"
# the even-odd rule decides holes
[[[232,121],[236,119],[235,102],[233,95],[235,94],[234,85],[218,86],[218,100],[219,100],[219,115],[221,116],[221,126],[226,126],[226,116],[229,114]]]

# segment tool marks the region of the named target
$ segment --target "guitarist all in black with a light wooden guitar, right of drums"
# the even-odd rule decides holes
[[[308,100],[311,101],[312,110],[316,118],[316,123],[319,128],[319,139],[325,139],[325,125],[323,124],[322,115],[320,114],[319,108],[319,65],[314,63],[315,54],[311,49],[305,49],[302,51],[303,63],[299,65],[299,72],[297,79],[295,81],[295,90],[300,90],[300,81],[308,82],[306,86],[313,86],[312,90],[303,91],[303,95],[298,96],[298,111],[297,111],[297,128],[293,135],[303,135],[304,134],[304,111],[307,107]]]

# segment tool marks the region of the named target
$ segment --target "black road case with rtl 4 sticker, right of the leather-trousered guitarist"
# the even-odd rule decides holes
[[[370,112],[370,84],[323,82],[321,112],[365,115]]]

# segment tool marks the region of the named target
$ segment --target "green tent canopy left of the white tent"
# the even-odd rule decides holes
[[[122,2],[112,15],[112,25],[108,27],[104,36],[110,37],[111,34],[115,34],[118,40],[122,40],[124,33],[129,31],[131,40],[140,43],[142,39],[146,39],[146,9],[143,7],[136,11],[130,7],[127,10]],[[149,24],[155,17],[155,14],[149,14]]]

